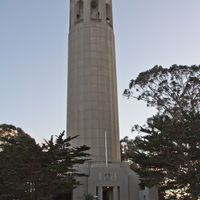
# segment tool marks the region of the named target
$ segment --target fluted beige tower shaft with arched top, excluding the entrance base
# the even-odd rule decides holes
[[[105,151],[120,162],[112,1],[71,0],[68,44],[67,133],[79,135],[72,145],[90,146],[95,162]]]

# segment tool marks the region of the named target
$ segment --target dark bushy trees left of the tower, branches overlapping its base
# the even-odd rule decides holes
[[[0,200],[52,200],[79,185],[74,165],[88,157],[87,146],[72,148],[64,132],[39,145],[22,129],[0,125]]]

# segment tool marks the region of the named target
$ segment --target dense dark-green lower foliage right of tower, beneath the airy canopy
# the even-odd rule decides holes
[[[200,115],[187,118],[178,121],[156,115],[147,128],[140,128],[145,134],[135,140],[125,138],[123,158],[133,162],[141,185],[160,187],[162,199],[170,198],[168,190],[184,190],[189,196],[200,192]]]

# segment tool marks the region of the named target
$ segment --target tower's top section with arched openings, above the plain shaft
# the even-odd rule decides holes
[[[79,23],[103,22],[113,26],[111,0],[71,0],[70,29]]]

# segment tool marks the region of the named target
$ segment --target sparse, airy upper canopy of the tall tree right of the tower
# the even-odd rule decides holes
[[[131,80],[124,95],[144,100],[147,106],[176,118],[181,111],[200,111],[200,66],[155,66]]]

